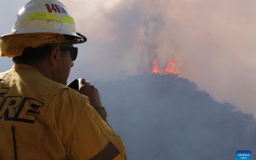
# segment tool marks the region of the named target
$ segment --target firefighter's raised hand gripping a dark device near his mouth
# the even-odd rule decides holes
[[[98,93],[98,90],[84,78],[79,78],[78,82],[79,93],[86,95],[90,99],[90,105],[102,106],[102,100],[100,94]]]

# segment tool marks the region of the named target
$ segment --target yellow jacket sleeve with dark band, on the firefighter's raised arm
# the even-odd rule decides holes
[[[67,90],[58,98],[62,101],[62,143],[70,159],[114,159],[126,158],[122,139],[90,106],[89,98]],[[65,95],[66,94],[66,95]],[[66,109],[66,110],[64,110]],[[64,121],[64,122],[63,122]]]

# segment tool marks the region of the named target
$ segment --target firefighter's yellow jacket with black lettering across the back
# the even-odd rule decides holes
[[[122,139],[89,98],[31,66],[0,74],[0,130],[2,160],[97,159],[111,145],[118,150],[110,159],[127,159]]]

